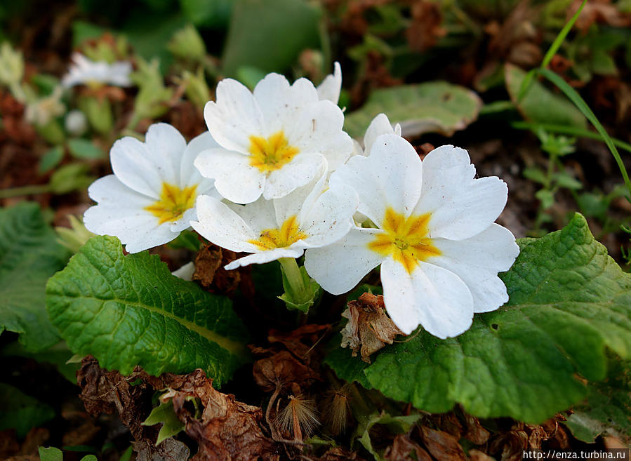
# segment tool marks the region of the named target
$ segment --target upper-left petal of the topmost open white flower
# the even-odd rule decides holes
[[[263,114],[252,93],[233,79],[217,85],[217,102],[206,102],[204,120],[215,141],[228,150],[249,152],[250,136],[263,134]]]

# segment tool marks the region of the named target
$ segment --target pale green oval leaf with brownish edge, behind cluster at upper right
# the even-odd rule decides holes
[[[401,123],[406,136],[451,136],[477,119],[481,106],[476,93],[444,81],[394,86],[373,91],[365,105],[346,116],[345,130],[361,138],[372,119],[384,112],[393,125]]]

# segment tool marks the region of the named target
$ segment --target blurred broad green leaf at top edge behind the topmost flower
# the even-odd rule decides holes
[[[223,53],[224,73],[241,66],[283,72],[300,51],[317,48],[320,9],[304,0],[235,0]]]

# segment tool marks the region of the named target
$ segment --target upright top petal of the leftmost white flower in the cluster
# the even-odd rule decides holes
[[[154,123],[145,135],[145,147],[163,181],[180,187],[180,166],[186,140],[168,123]]]

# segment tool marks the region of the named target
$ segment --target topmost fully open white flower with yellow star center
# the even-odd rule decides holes
[[[341,109],[320,101],[307,79],[290,86],[284,76],[268,74],[254,93],[224,79],[204,118],[221,147],[200,154],[195,166],[236,203],[261,194],[279,199],[316,178],[324,163],[337,168],[352,151]]]

